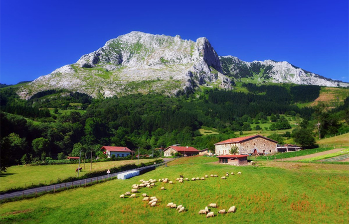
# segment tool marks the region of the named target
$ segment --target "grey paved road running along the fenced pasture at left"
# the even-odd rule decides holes
[[[148,172],[147,169],[151,170],[151,169],[153,169],[153,167],[155,168],[155,167],[164,165],[164,164],[168,163],[171,160],[172,159],[164,159],[164,161],[165,161],[164,163],[159,163],[159,164],[156,164],[156,165],[136,168],[136,169],[133,169],[133,170],[139,170],[141,172],[141,174],[142,174],[142,173]],[[26,195],[33,195],[33,194],[37,194],[37,193],[41,193],[41,192],[50,192],[50,191],[54,191],[55,192],[55,191],[59,191],[59,190],[62,190],[62,189],[72,188],[74,186],[85,186],[85,185],[88,185],[88,184],[90,184],[92,182],[105,180],[107,178],[108,178],[108,180],[111,180],[113,178],[115,179],[115,178],[117,178],[118,174],[125,173],[125,172],[128,172],[128,171],[131,171],[131,170],[118,172],[118,173],[111,173],[109,175],[103,175],[103,176],[99,176],[99,177],[92,177],[92,178],[77,180],[77,181],[68,182],[68,183],[53,184],[53,185],[48,185],[48,186],[44,186],[44,187],[31,188],[31,189],[22,190],[22,191],[5,193],[5,194],[1,194],[0,195],[0,200],[6,199],[6,198],[13,198],[13,197],[24,197]]]

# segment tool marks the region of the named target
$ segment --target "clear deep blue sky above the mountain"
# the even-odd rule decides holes
[[[0,82],[47,75],[131,31],[204,36],[220,56],[348,82],[348,21],[348,0],[1,0]]]

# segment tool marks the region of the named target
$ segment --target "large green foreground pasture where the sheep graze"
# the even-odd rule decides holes
[[[168,167],[128,180],[112,180],[88,188],[48,194],[36,199],[9,202],[0,205],[2,224],[9,223],[70,223],[70,224],[334,224],[348,223],[348,166],[333,165],[331,172],[324,172],[316,164],[263,162],[260,166],[235,167],[216,163],[199,163],[185,158]],[[179,159],[180,160],[180,159]],[[194,164],[194,165],[191,165]],[[275,165],[276,164],[276,165]],[[277,167],[277,166],[289,167]],[[271,167],[274,166],[274,167]],[[142,188],[135,199],[120,199],[119,195],[131,190],[140,179],[169,178],[180,174],[186,177],[224,175],[225,172],[242,172],[242,175],[207,178],[205,181],[184,181],[174,184],[157,183],[152,189]],[[164,186],[165,191],[160,191]],[[156,196],[158,206],[149,207],[142,202],[142,193]],[[186,211],[178,214],[166,207],[167,203],[182,204]],[[209,203],[217,203],[211,211],[228,210],[236,206],[237,212],[205,219],[198,215]]]

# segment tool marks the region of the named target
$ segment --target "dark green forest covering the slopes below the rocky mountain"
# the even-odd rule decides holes
[[[214,143],[237,137],[236,131],[251,130],[253,123],[271,122],[270,130],[289,129],[282,114],[301,122],[292,133],[274,135],[280,143],[292,135],[295,143],[315,147],[319,121],[322,137],[349,130],[348,98],[331,110],[321,104],[299,108],[296,103],[314,101],[320,87],[246,84],[245,88],[248,93],[202,89],[175,97],[133,94],[106,99],[50,90],[27,101],[18,98],[16,88],[1,88],[1,170],[13,164],[78,156],[80,150],[93,150],[94,156],[103,157],[103,145],[140,148],[140,154],[172,144],[214,151]],[[219,133],[203,135],[202,126]],[[300,134],[310,141],[297,142]]]

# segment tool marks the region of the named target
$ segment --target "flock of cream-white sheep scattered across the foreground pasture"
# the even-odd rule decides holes
[[[230,173],[231,175],[234,175],[234,173]],[[237,173],[238,175],[241,175],[241,172]],[[226,179],[226,177],[229,176],[229,173],[227,172],[225,174],[225,176],[222,176],[221,179]],[[218,175],[216,174],[211,174],[210,177],[218,177]],[[205,175],[205,177],[193,177],[190,180],[191,181],[196,181],[196,180],[205,180],[205,178],[208,178],[208,175]],[[177,178],[176,181],[178,181],[178,183],[183,183],[183,181],[189,181],[188,178],[183,178],[183,176],[180,176],[180,178]],[[136,198],[136,193],[138,193],[138,189],[140,188],[152,188],[155,187],[155,183],[157,182],[157,180],[155,179],[150,179],[150,180],[140,180],[141,184],[134,184],[132,185],[132,189],[131,192],[126,192],[123,195],[120,195],[120,198],[125,198],[125,196],[130,196],[129,198]],[[173,184],[173,181],[170,181],[168,178],[163,178],[163,179],[159,179],[158,182],[163,182],[163,183],[169,183],[169,184]],[[165,190],[165,187],[161,187],[160,190]],[[133,194],[132,194],[133,193]],[[149,197],[146,193],[142,194],[142,197],[144,197],[142,199],[142,201],[149,201],[148,205],[151,207],[157,206],[157,203],[159,202],[159,199],[155,196],[153,197]],[[178,211],[178,213],[184,212],[185,208],[183,207],[183,205],[176,205],[173,202],[167,204],[166,207],[169,207],[171,209],[176,209]],[[217,208],[217,204],[216,203],[211,203],[208,205],[208,207],[211,208]],[[225,213],[235,213],[236,212],[236,207],[232,206],[229,208],[229,210],[227,212],[225,212],[225,209],[219,210],[218,214],[225,214]],[[208,210],[207,207],[205,207],[205,209],[202,209],[199,211],[198,214],[206,214],[206,218],[209,217],[214,217],[214,213],[210,212]]]

